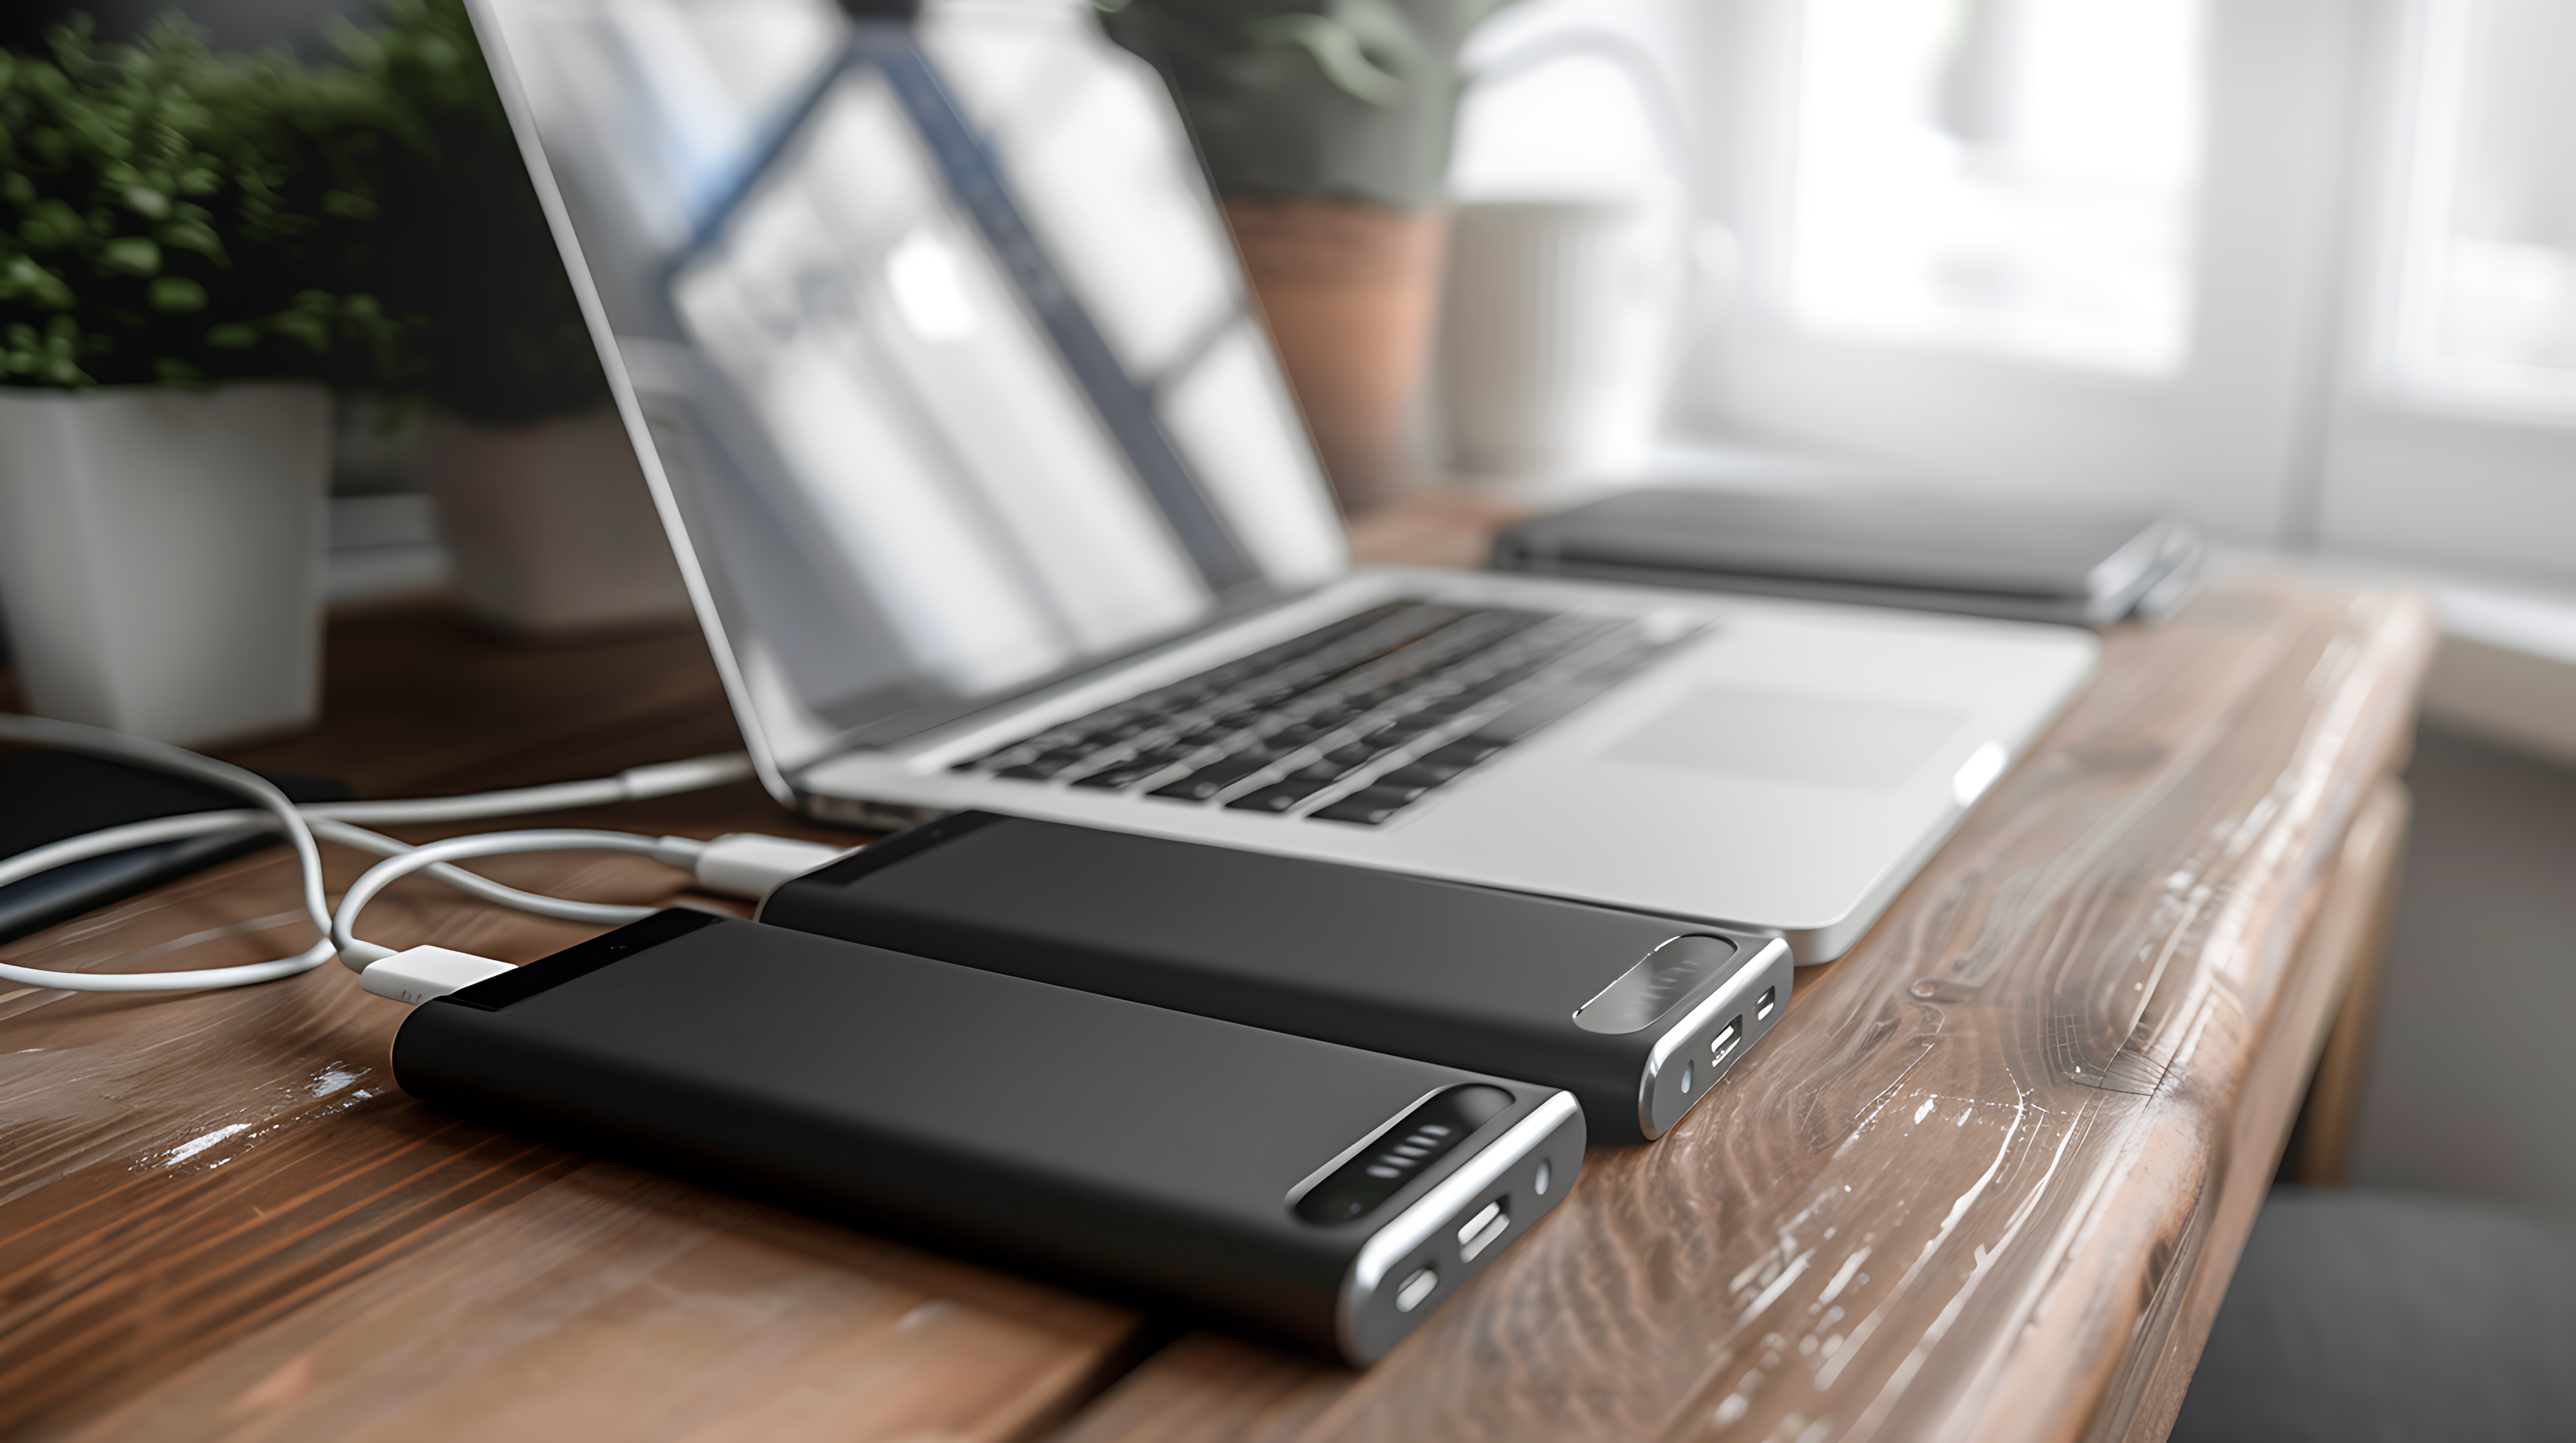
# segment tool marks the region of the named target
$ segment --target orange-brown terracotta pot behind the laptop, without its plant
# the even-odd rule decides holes
[[[1440,211],[1358,201],[1229,198],[1280,366],[1345,513],[1412,482],[1406,415],[1440,307]]]

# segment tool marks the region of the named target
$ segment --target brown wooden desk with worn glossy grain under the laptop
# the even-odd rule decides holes
[[[1440,533],[1417,515],[1378,549]],[[2378,946],[2429,647],[2414,598],[2287,580],[2117,631],[1708,1103],[1597,1149],[1365,1376],[448,1121],[389,1085],[402,1010],[337,969],[5,995],[0,1433],[2161,1438]],[[335,624],[327,716],[240,760],[394,796],[732,745],[693,634],[510,649],[422,611]],[[829,835],[747,786],[577,825]],[[355,874],[325,855],[335,886]],[[618,902],[672,884],[631,858],[492,871]],[[428,881],[368,920],[518,961],[587,933]],[[301,943],[268,853],[5,956]]]

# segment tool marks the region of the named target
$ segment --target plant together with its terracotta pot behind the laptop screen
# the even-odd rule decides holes
[[[1406,474],[1458,49],[1507,0],[1097,0],[1164,72],[1347,510]]]

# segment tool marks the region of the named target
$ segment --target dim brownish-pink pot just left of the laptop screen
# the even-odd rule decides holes
[[[526,636],[688,616],[644,469],[616,407],[489,428],[433,415],[420,482],[466,613]]]

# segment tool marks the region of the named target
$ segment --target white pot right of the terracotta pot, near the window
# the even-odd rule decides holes
[[[1440,394],[1453,461],[1602,477],[1654,446],[1687,263],[1677,201],[1471,201],[1450,211]]]

